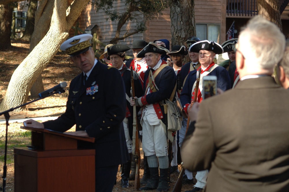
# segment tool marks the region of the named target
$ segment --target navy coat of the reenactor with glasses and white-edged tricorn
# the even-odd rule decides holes
[[[223,67],[216,67],[213,71],[211,71],[209,75],[217,76],[217,88],[226,91],[231,88],[230,85],[230,77],[228,71]],[[191,71],[186,79],[183,90],[181,92],[180,100],[181,104],[184,107],[186,104],[191,103],[192,99],[192,88],[194,82],[197,79],[197,70]]]

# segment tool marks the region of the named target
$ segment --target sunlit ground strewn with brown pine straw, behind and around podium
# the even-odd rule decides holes
[[[23,42],[21,40],[12,40],[12,49],[9,51],[0,51],[0,103],[5,97],[5,93],[10,81],[10,78],[14,70],[23,61],[23,59],[28,55],[29,43]],[[68,86],[65,88],[66,93],[61,95],[53,95],[45,99],[36,101],[32,104],[27,105],[26,109],[20,112],[10,112],[10,120],[12,119],[23,119],[23,118],[34,118],[34,117],[54,117],[59,116],[65,111],[65,105],[67,100],[67,92],[70,81],[80,70],[77,69],[74,64],[69,60],[68,56],[58,52],[47,67],[42,72],[42,82],[44,84],[44,89],[49,89],[60,82],[66,81]],[[35,98],[28,98],[31,101]],[[4,119],[4,116],[0,116],[0,119]],[[19,132],[23,131],[20,129],[22,123],[10,123],[8,132]],[[5,134],[5,124],[0,124],[0,136]],[[2,137],[4,138],[4,137]],[[9,141],[8,141],[9,142]],[[9,151],[13,153],[13,151]],[[0,152],[1,156],[4,154],[4,150]],[[3,162],[0,163],[0,186],[3,185]],[[179,166],[179,170],[181,167]],[[143,167],[140,169],[140,178],[143,175]],[[175,181],[179,175],[177,173],[171,174],[171,189],[172,191]],[[133,191],[134,181],[129,182],[129,188],[121,188],[120,186],[120,172],[117,175],[117,184],[115,185],[113,191]],[[193,187],[190,185],[183,185],[182,191],[191,190]],[[14,191],[14,164],[7,165],[7,181],[6,181],[6,191]],[[153,190],[153,192],[156,190]]]

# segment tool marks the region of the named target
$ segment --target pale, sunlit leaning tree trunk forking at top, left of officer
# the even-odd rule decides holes
[[[68,37],[69,29],[88,1],[73,1],[66,16],[67,0],[55,0],[49,31],[14,71],[0,105],[0,111],[19,106],[27,101],[32,84]]]

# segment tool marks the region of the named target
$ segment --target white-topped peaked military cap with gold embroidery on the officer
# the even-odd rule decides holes
[[[89,48],[91,46],[91,42],[90,42],[91,39],[92,39],[91,34],[77,35],[64,41],[62,45],[60,46],[60,49],[62,51],[65,51],[66,54],[68,55],[75,55],[75,53],[81,54],[88,50],[88,49],[86,50],[86,48]],[[81,50],[84,50],[84,51],[81,52]]]

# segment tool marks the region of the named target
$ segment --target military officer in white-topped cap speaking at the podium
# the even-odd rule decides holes
[[[79,148],[95,149],[95,190],[112,191],[118,165],[129,160],[123,130],[126,99],[119,71],[94,57],[90,34],[66,40],[60,49],[66,51],[81,73],[70,84],[66,111],[58,119],[40,123],[27,120],[27,127],[60,132],[76,124],[76,136],[95,138],[95,143],[79,142]]]

